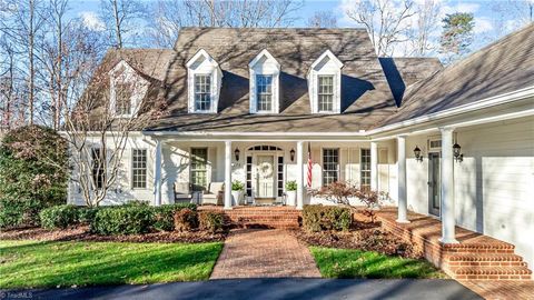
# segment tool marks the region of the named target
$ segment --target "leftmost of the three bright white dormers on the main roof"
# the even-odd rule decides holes
[[[188,111],[217,113],[222,71],[206,50],[200,49],[187,63]]]

